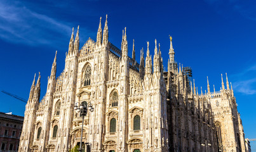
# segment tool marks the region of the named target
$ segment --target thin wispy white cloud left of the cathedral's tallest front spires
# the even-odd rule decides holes
[[[0,1],[0,39],[27,45],[56,44],[61,35],[70,37],[72,27],[26,8],[20,3]]]

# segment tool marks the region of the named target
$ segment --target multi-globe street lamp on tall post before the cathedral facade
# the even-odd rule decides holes
[[[80,117],[83,118],[82,120],[82,129],[81,129],[81,141],[80,141],[80,148],[79,151],[82,151],[82,139],[83,139],[83,126],[84,126],[84,116],[87,115],[87,111],[90,110],[91,112],[93,112],[93,105],[91,105],[91,103],[89,103],[87,105],[86,101],[84,101],[83,103],[79,104],[76,103],[74,106],[74,110],[76,111],[76,113],[80,114]]]

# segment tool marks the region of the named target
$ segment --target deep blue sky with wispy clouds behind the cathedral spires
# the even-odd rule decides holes
[[[241,113],[245,137],[256,138],[256,1],[0,1],[0,90],[29,97],[34,73],[41,72],[41,97],[57,54],[57,75],[64,70],[72,27],[80,26],[80,47],[96,41],[100,16],[108,14],[109,41],[120,48],[127,27],[131,56],[147,46],[154,54],[154,39],[161,44],[164,66],[173,37],[175,60],[192,67],[196,85],[221,87],[227,73]],[[102,27],[103,28],[103,27]],[[144,53],[145,54],[145,53]],[[0,111],[24,115],[25,103],[0,93]],[[252,142],[256,151],[256,144]]]

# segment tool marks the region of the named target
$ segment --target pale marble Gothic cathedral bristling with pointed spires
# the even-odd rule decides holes
[[[101,20],[101,18],[100,18]],[[89,143],[91,151],[245,151],[243,125],[229,82],[219,92],[198,94],[174,59],[172,38],[168,71],[163,69],[160,45],[154,56],[143,48],[140,63],[128,56],[126,28],[121,50],[108,41],[107,18],[97,41],[79,49],[74,28],[64,71],[56,78],[56,55],[48,87],[40,99],[40,73],[32,83],[25,109],[20,152],[69,151]],[[152,62],[153,60],[153,62]],[[36,75],[35,75],[36,76]],[[75,103],[91,103],[84,118]]]

